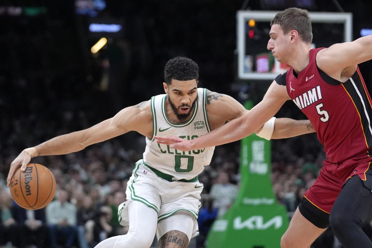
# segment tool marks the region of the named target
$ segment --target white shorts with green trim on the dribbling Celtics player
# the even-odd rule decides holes
[[[203,190],[203,184],[196,182],[167,181],[158,177],[153,171],[143,164],[142,160],[136,163],[132,176],[129,178],[126,187],[127,202],[120,204],[118,218],[123,226],[129,225],[128,203],[135,200],[142,202],[148,207],[154,209],[158,214],[157,238],[160,239],[165,233],[171,230],[178,230],[192,233],[189,240],[199,235],[198,213],[201,206],[200,194]],[[189,231],[185,226],[177,227],[177,222],[172,220],[168,223],[168,218],[177,213],[187,213],[185,218],[194,217],[193,226],[189,226]],[[178,217],[180,218],[180,217]],[[161,224],[161,226],[160,226]]]

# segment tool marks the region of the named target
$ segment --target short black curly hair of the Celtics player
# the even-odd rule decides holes
[[[186,57],[175,57],[169,59],[164,68],[164,81],[171,84],[172,79],[186,81],[199,80],[199,65],[192,59]]]

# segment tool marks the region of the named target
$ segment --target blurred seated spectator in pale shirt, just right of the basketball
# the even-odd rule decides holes
[[[47,223],[52,248],[57,248],[58,237],[64,237],[64,247],[66,248],[70,248],[75,241],[76,207],[67,200],[67,191],[61,190],[58,200],[47,206]]]

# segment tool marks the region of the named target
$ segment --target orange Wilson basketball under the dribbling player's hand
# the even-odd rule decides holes
[[[55,178],[47,167],[28,164],[25,172],[16,170],[10,182],[13,200],[25,209],[41,209],[49,204],[55,194]]]

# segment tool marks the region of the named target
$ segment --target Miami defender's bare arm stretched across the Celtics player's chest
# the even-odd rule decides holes
[[[289,100],[286,87],[280,86],[274,81],[267,90],[263,100],[249,112],[246,111],[244,115],[199,138],[190,141],[176,141],[177,143],[171,145],[171,148],[190,151],[242,139],[262,127],[267,120],[278,112],[286,100]]]

